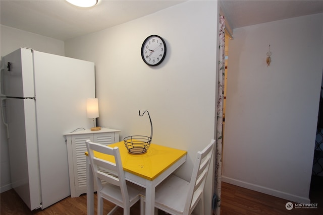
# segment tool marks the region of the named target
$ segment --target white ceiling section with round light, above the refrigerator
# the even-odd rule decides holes
[[[134,20],[183,1],[99,0],[79,8],[65,0],[1,0],[2,25],[67,40]]]

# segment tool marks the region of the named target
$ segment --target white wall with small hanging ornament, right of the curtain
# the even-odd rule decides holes
[[[323,68],[323,14],[234,30],[223,181],[309,202]],[[266,64],[268,45],[272,63]]]

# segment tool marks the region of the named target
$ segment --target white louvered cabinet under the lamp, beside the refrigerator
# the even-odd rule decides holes
[[[69,161],[71,197],[86,193],[86,146],[85,140],[90,139],[98,144],[109,145],[119,142],[119,131],[101,128],[98,131],[90,129],[65,133]]]

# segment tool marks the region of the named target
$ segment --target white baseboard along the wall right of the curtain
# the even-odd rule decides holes
[[[268,187],[263,187],[263,186],[259,186],[256,184],[251,184],[248,182],[244,182],[244,181],[240,181],[237,179],[233,179],[233,178],[229,178],[226,176],[222,176],[222,181],[223,182],[227,182],[229,184],[233,184],[233,185],[237,185],[239,187],[244,187],[250,190],[254,190],[257,192],[261,192],[261,193],[265,193],[268,195],[272,195],[272,196],[276,196],[279,198],[283,198],[289,201],[294,201],[296,203],[310,203],[310,199],[308,197],[303,197],[303,196],[297,196],[297,195],[293,195],[290,193],[285,193],[279,190],[274,190]],[[286,202],[287,203],[287,202]]]

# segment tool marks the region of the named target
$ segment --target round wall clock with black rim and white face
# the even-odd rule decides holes
[[[166,56],[166,43],[158,35],[150,35],[141,46],[141,57],[150,66],[159,65]]]

